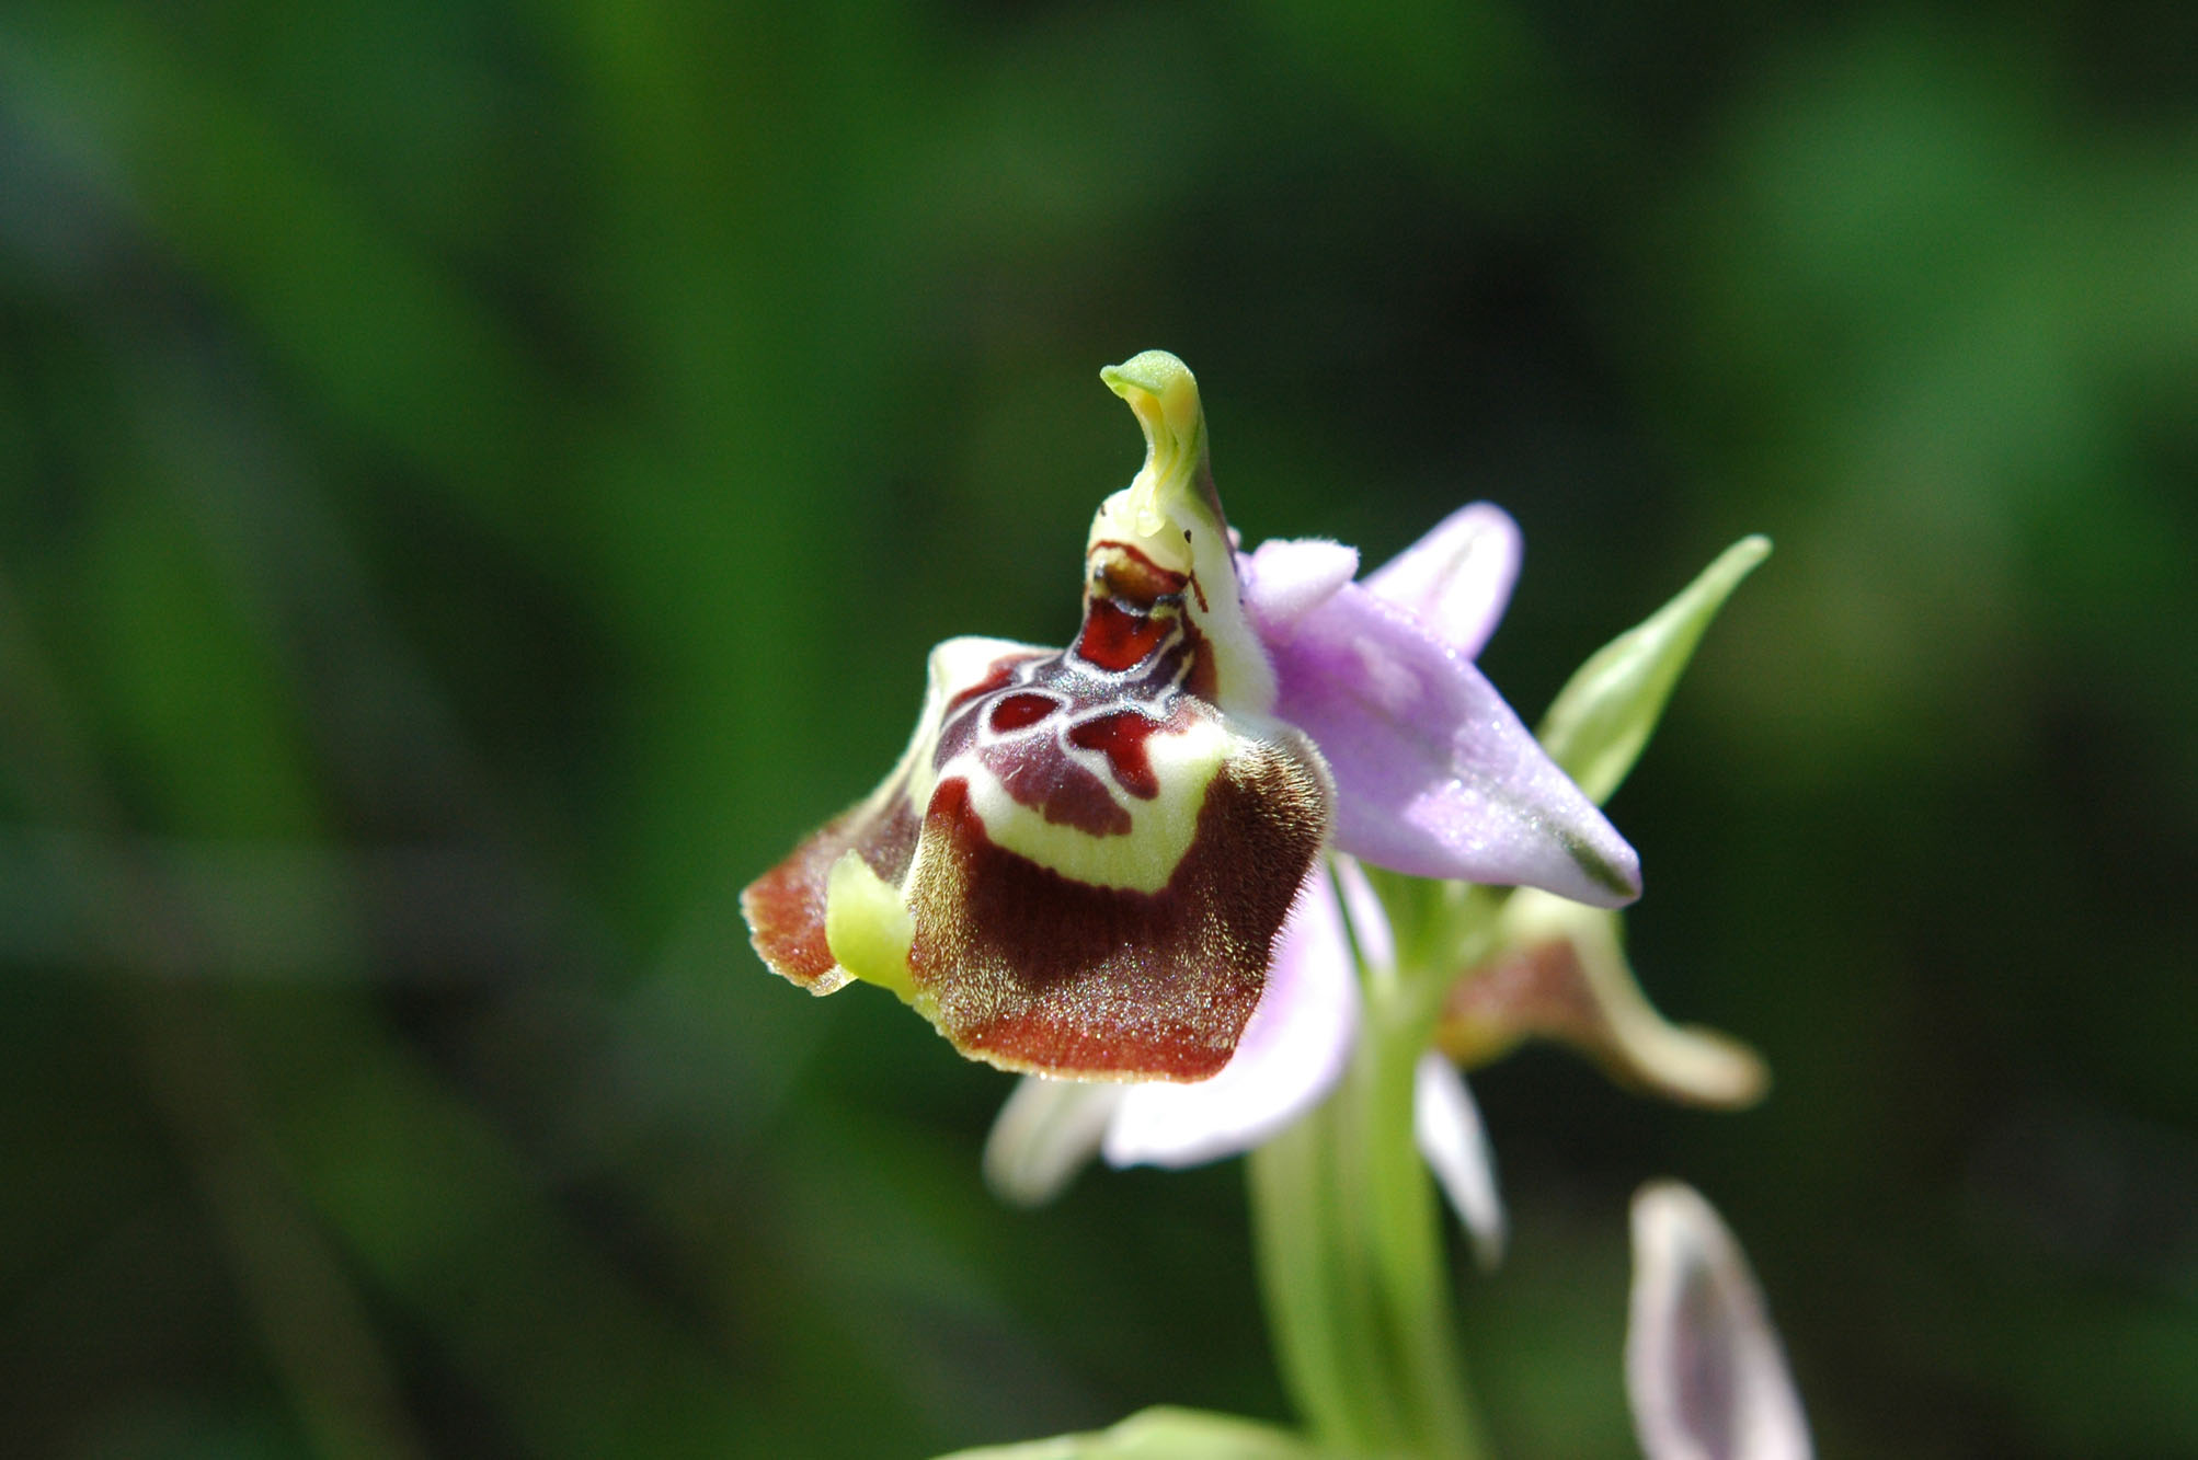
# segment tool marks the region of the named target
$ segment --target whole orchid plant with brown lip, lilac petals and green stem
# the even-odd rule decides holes
[[[1336,542],[1246,553],[1189,369],[1147,351],[1101,380],[1145,461],[1092,518],[1075,641],[932,650],[892,773],[741,894],[752,942],[796,986],[877,984],[961,1054],[1029,1076],[987,1144],[1009,1197],[1044,1199],[1097,1153],[1187,1166],[1257,1148],[1262,1291],[1314,1438],[1470,1460],[1427,1168],[1484,1262],[1503,1210],[1459,1063],[1552,1036],[1677,1098],[1763,1089],[1747,1049],[1640,995],[1613,911],[1640,863],[1598,806],[1767,544],[1728,549],[1528,731],[1475,667],[1517,575],[1508,516],[1466,507],[1365,580]],[[1635,1227],[1635,1330],[1659,1324],[1633,1361],[1638,1405],[1763,1374],[1736,1249],[1714,1216],[1673,1212]],[[1677,1298],[1653,1276],[1673,1271]],[[1690,1326],[1697,1291],[1714,1333]],[[1739,1346],[1697,1374],[1697,1333]],[[1642,1401],[1642,1383],[1662,1388]],[[1642,1410],[1651,1456],[1754,1453],[1681,1445],[1728,1418],[1778,1429],[1769,1388],[1743,1399],[1675,1423],[1666,1403],[1662,1429]],[[1141,1418],[1134,1440],[1099,1440],[1244,1438],[1213,1416]]]

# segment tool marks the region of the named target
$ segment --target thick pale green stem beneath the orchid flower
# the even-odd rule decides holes
[[[1365,970],[1365,1017],[1343,1080],[1251,1155],[1259,1280],[1284,1383],[1323,1445],[1477,1460],[1486,1445],[1466,1390],[1440,1208],[1413,1139],[1413,1080],[1442,992],[1486,953],[1501,896],[1383,891],[1398,913],[1405,970]]]

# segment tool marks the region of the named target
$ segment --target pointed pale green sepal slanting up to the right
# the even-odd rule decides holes
[[[1591,801],[1600,806],[1627,779],[1701,632],[1769,551],[1761,534],[1728,547],[1675,599],[1596,650],[1556,694],[1536,735]]]

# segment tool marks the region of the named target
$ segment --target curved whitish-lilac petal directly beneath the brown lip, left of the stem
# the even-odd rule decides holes
[[[1312,1109],[1358,1034],[1358,977],[1336,889],[1306,878],[1275,942],[1266,995],[1211,1080],[1132,1085],[1106,1133],[1114,1166],[1198,1166],[1251,1150]]]

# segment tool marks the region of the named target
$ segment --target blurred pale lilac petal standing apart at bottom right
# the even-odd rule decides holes
[[[1692,1188],[1633,1197],[1627,1399],[1648,1460],[1809,1460],[1809,1423],[1739,1243]]]

